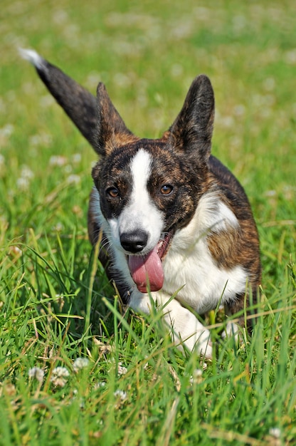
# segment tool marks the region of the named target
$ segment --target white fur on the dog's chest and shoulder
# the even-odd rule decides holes
[[[208,249],[206,236],[227,227],[238,227],[238,220],[216,195],[201,198],[194,218],[177,232],[164,259],[164,290],[180,289],[176,299],[186,302],[198,313],[216,308],[220,302],[235,299],[245,291],[247,274],[242,266],[223,269],[216,265]]]

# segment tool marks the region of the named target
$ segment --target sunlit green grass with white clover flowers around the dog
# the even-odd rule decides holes
[[[2,1],[0,444],[296,444],[295,9]],[[104,81],[143,137],[169,127],[196,74],[211,77],[213,152],[245,187],[260,232],[252,338],[219,341],[204,368],[171,346],[157,315],[122,316],[88,243],[95,154],[18,46],[93,92]],[[207,322],[218,338],[219,314]]]

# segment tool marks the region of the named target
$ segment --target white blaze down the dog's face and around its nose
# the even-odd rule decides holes
[[[110,220],[110,228],[120,244],[120,234],[143,229],[148,233],[147,247],[143,254],[151,251],[159,242],[162,234],[162,213],[153,204],[147,190],[147,182],[151,174],[151,155],[140,149],[132,158],[130,170],[132,173],[132,194],[128,204],[117,219]]]

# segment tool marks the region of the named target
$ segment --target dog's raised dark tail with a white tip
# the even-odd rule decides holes
[[[21,56],[36,68],[38,76],[65,110],[90,145],[95,147],[97,102],[88,90],[33,50],[20,50]]]

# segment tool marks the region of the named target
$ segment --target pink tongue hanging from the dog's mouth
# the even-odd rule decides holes
[[[129,256],[129,271],[141,293],[147,293],[147,287],[158,291],[164,284],[164,270],[156,248],[146,256]]]

